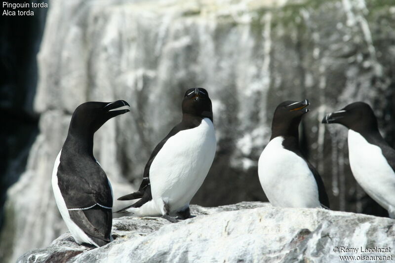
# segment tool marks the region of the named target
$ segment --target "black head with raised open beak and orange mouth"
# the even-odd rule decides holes
[[[272,138],[277,136],[295,136],[298,138],[298,127],[303,114],[309,112],[308,100],[281,102],[275,111],[272,121]]]

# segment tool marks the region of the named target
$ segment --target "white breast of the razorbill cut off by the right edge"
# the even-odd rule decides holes
[[[351,129],[348,145],[350,166],[356,181],[370,197],[394,214],[395,173],[382,150]]]

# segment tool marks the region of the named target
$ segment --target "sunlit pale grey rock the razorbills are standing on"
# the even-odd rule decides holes
[[[394,220],[323,209],[275,208],[242,202],[192,206],[192,219],[171,224],[162,218],[113,221],[115,241],[101,248],[77,245],[69,233],[47,248],[29,251],[18,263],[339,262],[339,256],[389,253],[334,252],[348,248],[393,248]],[[374,261],[372,261],[374,262]]]

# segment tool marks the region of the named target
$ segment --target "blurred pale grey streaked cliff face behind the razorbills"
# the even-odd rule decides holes
[[[187,88],[213,102],[217,153],[192,203],[266,201],[257,161],[276,105],[309,99],[301,145],[334,210],[388,216],[356,184],[347,129],[325,113],[369,103],[395,147],[395,0],[68,0],[1,17],[0,262],[65,232],[51,188],[71,114],[129,102],[95,135],[117,198],[139,186]],[[83,176],[83,175],[81,175]],[[372,175],[374,180],[374,175]],[[127,202],[115,202],[115,209]]]

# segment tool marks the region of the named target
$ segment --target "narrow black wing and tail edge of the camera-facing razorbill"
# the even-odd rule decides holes
[[[200,122],[201,122],[201,119],[200,119]],[[154,161],[155,157],[157,156],[159,150],[162,149],[163,145],[167,142],[167,140],[170,137],[174,136],[175,134],[177,134],[178,132],[180,132],[182,130],[195,128],[199,124],[200,123],[198,121],[195,123],[180,122],[176,126],[174,126],[174,128],[171,129],[169,134],[167,134],[166,137],[164,137],[163,140],[160,141],[160,143],[158,143],[158,145],[155,147],[154,151],[151,153],[151,156],[148,159],[147,164],[145,165],[144,173],[143,173],[143,181],[141,182],[141,185],[140,185],[140,188],[138,189],[138,191],[123,195],[123,196],[119,197],[118,200],[133,200],[133,199],[137,199],[137,198],[142,198],[142,199],[146,200],[145,202],[148,202],[149,200],[151,200],[152,196],[151,196],[151,184],[150,184],[150,168],[151,168],[151,164]],[[147,189],[150,189],[149,195],[145,194]],[[140,201],[142,201],[142,200],[139,200],[139,202]],[[144,203],[141,203],[139,206],[134,206],[134,207],[140,207]],[[136,203],[136,205],[138,205],[138,204]],[[124,208],[124,209],[126,209],[126,208]],[[123,210],[123,209],[121,209],[121,210]]]

